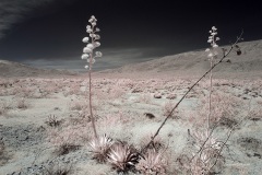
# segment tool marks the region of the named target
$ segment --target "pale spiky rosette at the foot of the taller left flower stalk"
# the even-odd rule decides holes
[[[90,141],[91,152],[93,153],[93,158],[98,162],[105,162],[107,160],[108,151],[112,145],[112,139],[107,135],[103,135],[97,139],[94,138]]]

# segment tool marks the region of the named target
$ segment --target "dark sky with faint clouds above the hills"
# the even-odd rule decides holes
[[[44,68],[84,70],[85,27],[95,15],[102,70],[205,49],[210,28],[218,45],[262,39],[259,1],[0,0],[0,59]]]

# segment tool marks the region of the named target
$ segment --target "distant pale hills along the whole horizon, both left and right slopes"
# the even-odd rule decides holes
[[[262,40],[242,42],[238,46],[241,55],[236,51],[225,58],[225,60],[214,69],[217,77],[242,77],[242,78],[262,78]],[[221,46],[229,50],[230,46]],[[117,69],[109,69],[95,72],[98,75],[141,75],[141,74],[168,74],[174,77],[199,77],[210,69],[207,52],[189,51],[172,56],[166,56],[159,59],[127,65]],[[219,49],[218,59],[223,56]],[[0,77],[52,77],[52,75],[78,75],[76,72],[69,70],[39,69],[26,65],[0,60]]]

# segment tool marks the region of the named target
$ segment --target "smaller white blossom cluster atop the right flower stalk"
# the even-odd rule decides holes
[[[205,51],[210,52],[209,56],[207,56],[209,58],[216,58],[217,55],[218,55],[218,52],[216,51],[216,48],[218,48],[218,45],[216,44],[216,42],[219,40],[221,38],[216,37],[216,35],[217,35],[216,31],[217,31],[217,28],[215,26],[213,26],[210,31],[211,36],[209,36],[207,43],[211,44],[212,48],[211,49],[207,48],[205,50]]]

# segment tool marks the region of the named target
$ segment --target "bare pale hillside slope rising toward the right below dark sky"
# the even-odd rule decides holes
[[[236,51],[225,58],[225,60],[215,68],[216,75],[243,75],[243,77],[261,77],[262,75],[262,40],[243,42],[239,44],[242,54],[238,56]],[[229,46],[222,46],[229,50]],[[223,54],[219,51],[217,61]],[[166,56],[159,59],[128,65],[118,69],[105,70],[99,73],[121,73],[121,74],[165,74],[174,75],[200,75],[210,69],[207,52],[189,51],[172,56]]]

